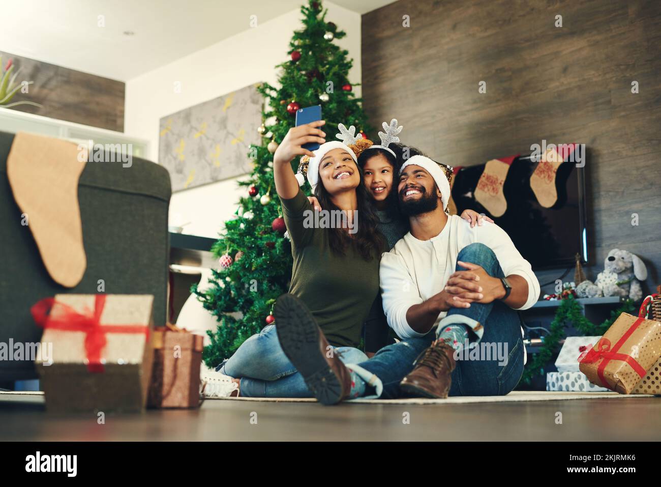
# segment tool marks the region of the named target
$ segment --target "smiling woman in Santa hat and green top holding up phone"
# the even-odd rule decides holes
[[[291,128],[274,154],[276,192],[292,240],[289,292],[311,310],[334,352],[343,361],[358,363],[367,358],[358,346],[371,303],[379,294],[379,260],[387,247],[377,230],[358,157],[348,145],[358,138],[348,136],[341,126],[344,142],[326,142],[319,128],[324,124],[320,120]],[[308,142],[322,145],[311,152],[303,148]],[[340,228],[310,224],[313,206],[290,164],[297,155],[309,156],[307,179],[317,200],[346,216]],[[276,326],[266,326],[247,339],[217,370],[234,378],[241,396],[310,397],[302,376],[282,352]]]

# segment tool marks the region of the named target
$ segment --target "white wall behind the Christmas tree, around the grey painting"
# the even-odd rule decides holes
[[[329,10],[327,21],[346,31],[345,38],[334,42],[354,59],[350,82],[360,83],[360,14],[328,1],[323,5]],[[288,59],[289,42],[293,31],[302,26],[301,17],[299,9],[295,9],[127,81],[124,131],[149,140],[148,159],[157,162],[159,120],[163,116],[258,81],[277,85],[274,67]],[[174,93],[175,81],[180,81],[181,93]],[[360,87],[354,93],[360,97]],[[190,221],[185,233],[215,238],[237,210],[239,197],[245,191],[239,189],[237,179],[241,177],[173,194],[171,224]]]

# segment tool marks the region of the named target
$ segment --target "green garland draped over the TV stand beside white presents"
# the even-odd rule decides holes
[[[584,336],[601,336],[622,313],[635,314],[634,312],[633,300],[627,299],[617,310],[611,312],[610,318],[603,321],[602,324],[595,325],[583,316],[582,306],[574,296],[564,298],[555,312],[555,318],[553,318],[550,326],[550,333],[544,337],[541,349],[534,355],[528,355],[529,360],[521,380],[526,384],[530,384],[535,376],[544,374],[544,367],[560,349],[559,342],[565,337],[564,328],[567,324],[572,324]],[[531,355],[532,357],[530,357]]]

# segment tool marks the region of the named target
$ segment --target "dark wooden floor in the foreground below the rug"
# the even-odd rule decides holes
[[[403,423],[406,413],[409,424]],[[99,425],[93,415],[50,414],[40,396],[0,398],[3,441],[658,441],[661,400],[333,407],[208,400],[199,410],[148,410],[105,420]]]

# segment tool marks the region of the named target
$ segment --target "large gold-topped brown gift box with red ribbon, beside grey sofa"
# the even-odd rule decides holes
[[[35,361],[49,411],[143,410],[151,378],[153,299],[147,294],[55,296],[42,335],[42,344],[52,343],[52,363],[43,357]],[[105,340],[100,365],[89,359],[86,341],[92,329]]]

